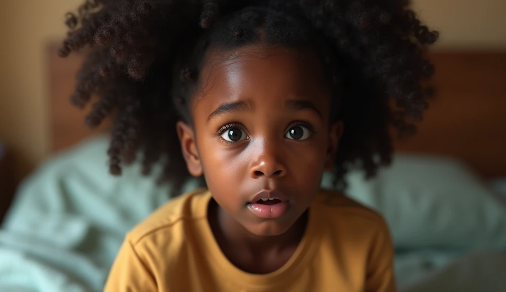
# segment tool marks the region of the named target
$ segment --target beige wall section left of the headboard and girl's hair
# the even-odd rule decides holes
[[[64,14],[80,0],[0,0],[0,139],[20,178],[49,148],[45,45],[65,34]]]

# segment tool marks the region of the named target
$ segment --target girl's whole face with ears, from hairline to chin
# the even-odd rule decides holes
[[[329,123],[316,56],[264,45],[211,51],[191,107],[194,127],[178,124],[189,171],[203,173],[216,202],[250,232],[284,233],[318,193],[342,131]]]

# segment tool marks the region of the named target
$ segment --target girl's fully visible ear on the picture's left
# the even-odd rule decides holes
[[[193,128],[185,122],[179,121],[176,124],[176,129],[188,172],[195,177],[201,176],[202,164],[200,163]]]

